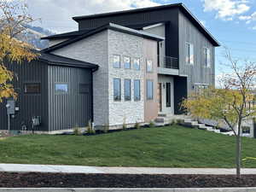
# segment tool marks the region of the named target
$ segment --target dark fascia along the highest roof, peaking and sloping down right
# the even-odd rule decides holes
[[[166,5],[143,8],[143,9],[130,9],[125,11],[110,12],[105,14],[76,16],[76,17],[73,17],[73,20],[79,22],[79,20],[96,19],[96,18],[102,18],[107,16],[125,15],[125,14],[140,13],[140,12],[158,10],[158,9],[169,9],[169,8],[175,8],[175,7],[180,8],[185,13],[185,15],[187,15],[192,20],[195,26],[200,28],[201,31],[207,36],[207,38],[210,39],[210,41],[214,46],[216,47],[220,46],[217,39],[214,38],[210,32],[208,32],[205,26],[201,25],[201,22],[195,18],[195,15],[193,15],[183,3],[166,4]]]

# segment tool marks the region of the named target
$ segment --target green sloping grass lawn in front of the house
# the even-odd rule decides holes
[[[242,138],[242,157],[256,139]],[[235,137],[182,126],[96,136],[21,136],[0,140],[1,163],[84,166],[234,167]],[[243,162],[256,167],[256,160]]]

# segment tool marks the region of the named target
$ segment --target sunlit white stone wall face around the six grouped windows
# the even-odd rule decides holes
[[[109,125],[134,124],[144,122],[143,38],[123,32],[108,31],[108,84],[109,84]],[[113,68],[113,55],[120,55],[121,67]],[[131,57],[131,69],[124,68],[124,56]],[[133,67],[133,58],[140,58],[140,70]],[[121,79],[121,101],[113,101],[113,79]],[[131,79],[131,101],[125,102],[124,80]],[[134,79],[141,81],[141,101],[134,101]]]

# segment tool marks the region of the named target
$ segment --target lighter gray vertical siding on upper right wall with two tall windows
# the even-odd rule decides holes
[[[195,83],[214,85],[215,76],[215,48],[195,27],[189,19],[179,12],[179,69],[183,75],[188,75],[188,90],[193,90]],[[188,65],[185,61],[185,44],[194,44],[194,65]],[[203,61],[203,48],[211,49],[211,67],[205,67]]]

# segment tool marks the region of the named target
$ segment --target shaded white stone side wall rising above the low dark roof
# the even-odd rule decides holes
[[[108,124],[108,31],[96,33],[52,53],[99,65],[99,70],[93,73],[94,123]]]

